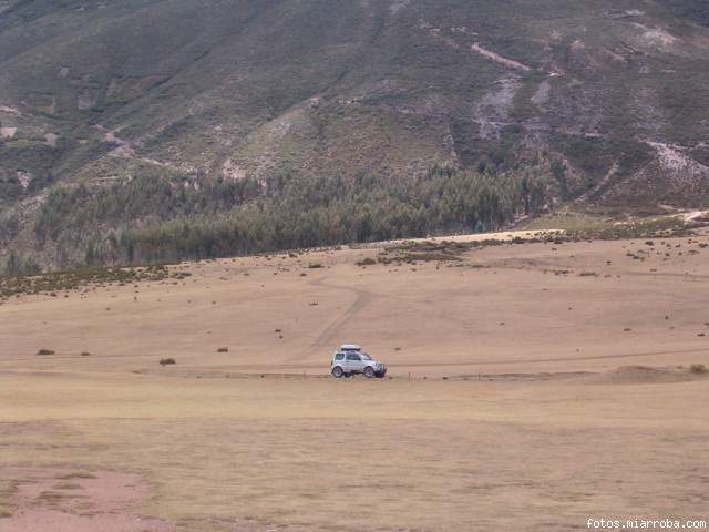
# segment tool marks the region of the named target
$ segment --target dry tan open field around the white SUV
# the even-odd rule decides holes
[[[0,531],[707,519],[706,244],[373,246],[12,297]],[[326,378],[342,341],[393,378]]]

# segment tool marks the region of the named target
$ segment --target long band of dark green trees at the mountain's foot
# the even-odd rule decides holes
[[[35,223],[53,267],[135,265],[494,231],[542,212],[556,194],[538,172],[438,165],[391,180],[196,178],[155,171],[110,185],[52,191]],[[12,269],[23,269],[13,256]],[[31,270],[33,259],[27,259]]]

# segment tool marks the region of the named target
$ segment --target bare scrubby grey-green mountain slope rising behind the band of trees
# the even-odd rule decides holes
[[[548,176],[547,204],[703,206],[707,58],[699,0],[0,1],[0,246],[56,264],[51,191],[143,175],[267,194],[444,163]]]

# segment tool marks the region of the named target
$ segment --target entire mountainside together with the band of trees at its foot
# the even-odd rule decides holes
[[[0,0],[0,264],[709,203],[701,0]]]

